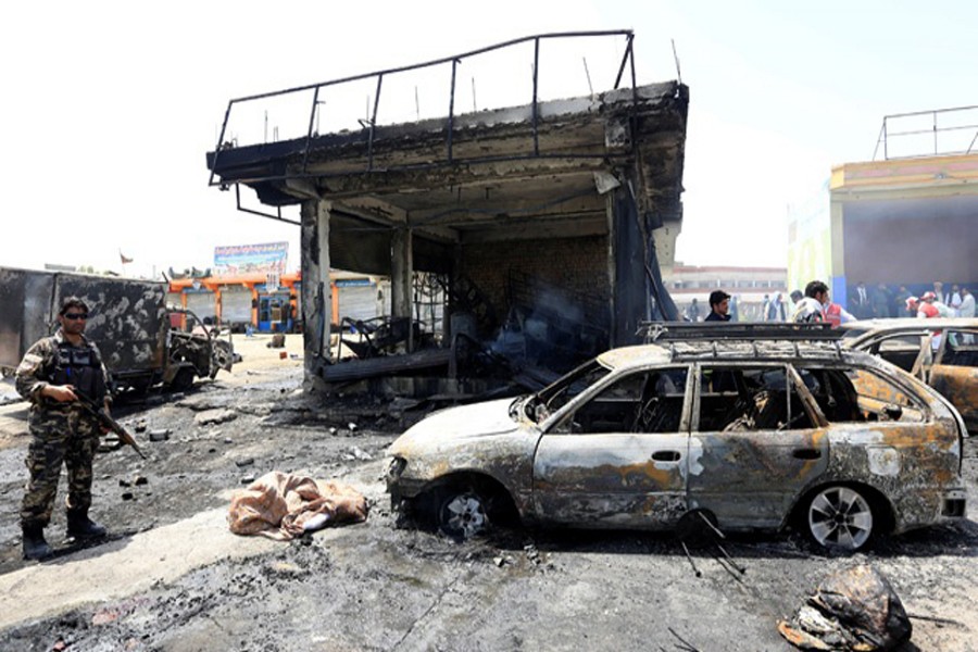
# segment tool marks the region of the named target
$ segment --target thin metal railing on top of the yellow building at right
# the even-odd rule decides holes
[[[874,161],[880,147],[885,161],[978,151],[978,105],[883,116]]]

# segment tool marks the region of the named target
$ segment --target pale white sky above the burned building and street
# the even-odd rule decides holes
[[[976,25],[971,0],[17,2],[0,39],[0,265],[121,271],[122,251],[150,274],[287,240],[297,267],[298,227],[206,185],[229,99],[614,28],[636,33],[640,84],[676,77],[675,40],[690,87],[677,259],[783,265],[788,204],[869,160],[883,115],[978,104]],[[480,93],[512,72],[482,74]]]

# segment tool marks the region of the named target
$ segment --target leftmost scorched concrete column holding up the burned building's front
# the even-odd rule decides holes
[[[330,359],[329,208],[327,201],[302,202],[302,339],[308,381]]]

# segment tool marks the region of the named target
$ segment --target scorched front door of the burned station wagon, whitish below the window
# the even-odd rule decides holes
[[[612,377],[554,415],[534,459],[538,518],[589,528],[674,525],[686,512],[689,378],[686,366]]]

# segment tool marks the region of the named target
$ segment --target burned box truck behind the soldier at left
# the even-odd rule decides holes
[[[183,391],[230,371],[229,339],[190,311],[166,304],[166,285],[88,274],[0,267],[0,367],[11,373],[30,346],[54,333],[66,297],[91,309],[86,337],[102,353],[113,392],[163,385]]]

